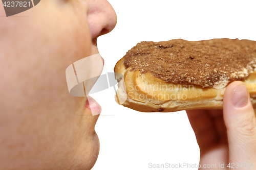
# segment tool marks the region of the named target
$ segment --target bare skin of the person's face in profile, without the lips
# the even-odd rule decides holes
[[[93,167],[99,115],[69,94],[65,70],[97,54],[97,37],[115,25],[104,0],[44,0],[0,17],[0,169]]]

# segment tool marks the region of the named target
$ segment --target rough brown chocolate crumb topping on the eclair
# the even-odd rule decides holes
[[[124,56],[125,68],[203,87],[243,80],[256,70],[255,61],[256,41],[239,39],[142,41]]]

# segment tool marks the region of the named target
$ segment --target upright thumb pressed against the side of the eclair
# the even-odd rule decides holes
[[[232,82],[226,88],[223,117],[227,128],[229,162],[251,163],[251,168],[252,163],[256,166],[253,162],[256,160],[256,118],[243,82]]]

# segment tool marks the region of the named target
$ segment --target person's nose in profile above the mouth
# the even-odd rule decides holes
[[[87,18],[92,39],[111,32],[117,22],[113,7],[105,0],[90,0]]]

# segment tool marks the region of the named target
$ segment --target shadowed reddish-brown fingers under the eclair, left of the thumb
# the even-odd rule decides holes
[[[186,112],[200,148],[200,164],[226,164],[228,149],[222,110]]]

